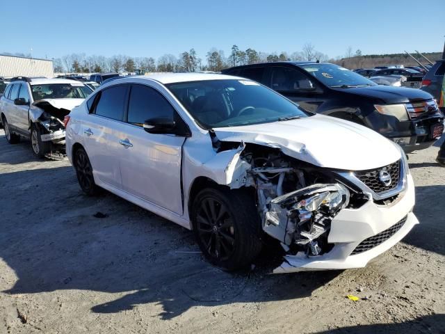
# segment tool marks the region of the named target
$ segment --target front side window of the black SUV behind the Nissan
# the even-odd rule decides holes
[[[273,67],[271,88],[281,92],[313,90],[314,84],[292,67]]]

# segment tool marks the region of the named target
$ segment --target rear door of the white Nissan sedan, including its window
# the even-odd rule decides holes
[[[119,129],[124,120],[128,90],[127,84],[100,90],[93,99],[88,100],[88,116],[81,126],[83,143],[95,177],[118,189],[122,189]]]

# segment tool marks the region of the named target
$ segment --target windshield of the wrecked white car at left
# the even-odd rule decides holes
[[[85,99],[90,88],[84,84],[45,84],[31,86],[35,101],[44,99]]]

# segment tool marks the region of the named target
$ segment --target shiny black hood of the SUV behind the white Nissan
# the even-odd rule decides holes
[[[420,89],[403,88],[393,86],[369,86],[357,88],[332,88],[341,89],[344,93],[373,97],[385,104],[419,102],[432,99],[429,93]],[[380,102],[381,103],[381,102]]]

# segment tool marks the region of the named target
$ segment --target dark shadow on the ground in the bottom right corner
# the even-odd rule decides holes
[[[396,324],[357,325],[330,329],[317,334],[398,334],[398,333],[445,333],[445,315],[425,315]]]

